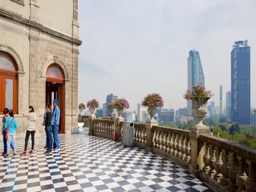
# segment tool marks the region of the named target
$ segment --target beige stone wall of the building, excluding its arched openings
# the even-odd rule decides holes
[[[29,105],[38,115],[38,131],[44,133],[46,69],[53,63],[65,75],[65,133],[77,125],[78,46],[82,43],[78,31],[77,0],[24,0],[24,6],[0,1],[0,51],[11,54],[18,64],[18,134],[26,131],[22,113]]]

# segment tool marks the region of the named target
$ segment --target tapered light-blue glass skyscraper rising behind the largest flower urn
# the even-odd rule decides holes
[[[195,49],[189,51],[189,57],[187,58],[187,88],[193,89],[195,85],[204,86],[203,67],[201,65],[201,59],[199,52]],[[187,108],[189,109],[189,116],[192,115],[192,102],[187,101]]]

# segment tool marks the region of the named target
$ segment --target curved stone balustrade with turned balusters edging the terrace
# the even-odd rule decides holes
[[[90,135],[122,141],[123,121],[90,118]],[[135,123],[134,145],[177,162],[216,191],[256,191],[256,149],[228,141],[198,127],[191,131]]]

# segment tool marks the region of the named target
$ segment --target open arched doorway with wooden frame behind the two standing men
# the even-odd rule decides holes
[[[61,118],[59,123],[59,133],[65,133],[65,84],[64,73],[57,64],[49,65],[46,71],[46,104],[53,100],[59,100]]]

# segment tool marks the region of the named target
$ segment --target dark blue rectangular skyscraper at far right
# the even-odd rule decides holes
[[[231,51],[231,121],[251,124],[251,61],[247,40],[234,42]]]

